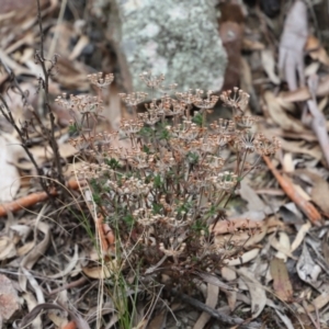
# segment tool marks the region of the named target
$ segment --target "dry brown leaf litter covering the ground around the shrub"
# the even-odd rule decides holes
[[[43,1],[46,20],[52,19],[54,9],[59,5],[57,1],[52,3],[53,7],[47,10],[48,1]],[[247,5],[243,10],[251,12],[253,8]],[[225,319],[226,324],[237,328],[243,326],[277,328],[274,324],[280,328],[310,328],[310,324],[328,328],[329,288],[326,275],[329,268],[329,209],[326,197],[328,160],[325,160],[328,159],[328,144],[321,139],[321,136],[328,135],[329,109],[328,101],[324,99],[329,94],[329,78],[326,71],[328,55],[321,41],[309,33],[311,24],[307,16],[309,10],[303,1],[295,1],[286,16],[283,12],[276,19],[266,16],[261,24],[257,23],[257,29],[253,26],[254,22],[249,22],[248,19],[246,22],[235,24],[229,20],[226,21],[230,22],[226,23],[226,29],[232,26],[238,29],[238,46],[249,52],[240,56],[240,48],[238,50],[239,56],[235,60],[241,61],[240,67],[245,72],[241,72],[240,77],[234,77],[235,83],[241,79],[240,83],[247,83],[247,90],[253,91],[260,100],[258,106],[261,104],[259,109],[263,118],[259,122],[259,126],[263,132],[275,132],[274,134],[281,137],[282,154],[271,163],[266,161],[269,169],[263,167],[257,174],[252,173],[248,184],[247,181],[241,183],[242,203],[232,204],[229,218],[213,227],[218,242],[225,245],[227,240],[234,241],[231,246],[238,248],[240,254],[237,259],[227,260],[220,273],[215,275],[197,272],[195,269],[195,276],[206,284],[206,297],[196,294],[198,300],[194,300],[189,298],[195,296],[181,295],[178,298],[183,304],[181,313],[171,309],[173,296],[161,303],[160,299],[156,299],[158,303],[155,303],[151,314],[148,314],[148,308],[145,309],[147,316],[140,320],[138,328],[155,328],[155,326],[175,328],[177,322],[190,325],[191,328],[205,326],[215,328],[212,327],[214,319]],[[258,15],[257,20],[260,18],[264,18],[264,13]],[[92,16],[89,19],[92,21]],[[23,22],[27,24],[26,26],[29,24],[33,26],[35,15],[14,16],[12,26],[19,26]],[[281,23],[283,31],[281,35],[271,30],[277,22],[284,22]],[[77,37],[77,31],[71,22],[65,23],[67,25],[64,23],[60,25],[66,31],[65,35]],[[5,35],[3,29],[1,27],[0,33]],[[16,76],[24,77],[29,89],[35,90],[37,83],[26,76],[38,76],[33,57],[29,55],[33,54],[31,50],[37,30],[22,31],[21,34],[13,32],[10,37],[5,35],[1,39],[1,47],[4,50],[1,50],[0,57]],[[56,90],[54,94],[61,88],[89,91],[84,78],[90,72],[89,64],[84,63],[83,56],[80,55],[92,41],[83,32],[77,39],[73,48],[69,47],[69,37],[58,39],[64,56],[58,63],[60,73],[50,80],[52,89]],[[269,44],[269,39],[275,39],[279,48],[275,48],[275,44]],[[53,41],[49,38],[47,42],[52,44]],[[16,49],[22,53],[15,53]],[[279,59],[273,49],[279,52]],[[20,60],[20,56],[23,55],[24,63]],[[305,69],[306,57],[314,64],[308,68],[310,73]],[[261,64],[256,65],[254,58],[261,58],[259,61]],[[95,66],[100,65],[100,69],[103,69],[106,60]],[[254,79],[243,78],[246,72],[250,72]],[[313,75],[318,79],[318,83],[314,86],[310,84],[310,78],[307,80],[307,77]],[[7,86],[8,77],[5,72],[0,76],[1,86]],[[257,79],[264,82],[262,87]],[[282,84],[284,81],[287,82],[287,88]],[[13,93],[11,101],[14,94],[16,95]],[[16,103],[21,104],[20,97],[16,98]],[[31,102],[37,102],[37,98]],[[308,106],[307,111],[299,107],[300,102]],[[16,115],[26,120],[24,115],[27,112],[23,109],[23,105],[22,109],[16,109]],[[114,127],[117,126],[117,117],[125,114],[125,109],[121,111],[116,109],[115,115],[109,109],[107,112],[109,126]],[[58,131],[58,140],[61,138],[60,152],[69,167],[76,151],[68,144],[68,117],[63,109],[58,109],[57,116],[58,123],[61,124],[61,129]],[[319,126],[322,131],[318,129]],[[38,164],[46,169],[52,154],[39,137],[33,136],[31,149]],[[35,172],[31,163],[24,162],[26,157],[16,146],[15,138],[14,133],[10,132],[1,134],[0,139],[2,145],[0,170],[3,178],[0,198],[4,208],[5,202],[14,200],[16,195],[24,196],[34,188],[33,181],[27,182],[27,190],[21,184],[23,175]],[[317,171],[314,171],[315,168]],[[309,178],[308,182],[300,182],[298,179],[300,169]],[[264,193],[257,191],[281,193],[266,193],[265,196]],[[80,200],[79,193],[72,193]],[[309,200],[306,200],[305,195],[309,195]],[[94,257],[95,249],[86,236],[86,230],[81,228],[81,222],[65,211],[57,214],[53,212],[49,216],[49,209],[54,204],[52,201],[45,201],[46,198],[47,196],[39,198],[41,204],[33,206],[29,212],[23,212],[22,207],[14,209],[14,214],[8,212],[10,207],[4,211],[4,215],[8,214],[7,223],[12,220],[11,216],[15,216],[15,219],[8,226],[2,225],[0,231],[0,260],[3,271],[0,275],[0,319],[4,324],[19,319],[20,328],[31,321],[35,328],[45,328],[45,324],[52,322],[69,328],[65,327],[70,324],[69,321],[73,321],[78,328],[91,328],[91,324],[95,322],[88,324],[87,315],[90,304],[93,307],[98,305],[98,285],[93,282],[111,281],[111,271],[122,264],[117,264],[112,257],[100,264],[100,258]],[[298,218],[279,211],[291,202],[302,211]],[[47,208],[43,207],[42,203],[46,203]],[[248,232],[242,232],[231,238],[226,222],[234,224],[235,229],[248,224],[249,229],[260,227],[260,231],[252,237],[249,237]],[[81,277],[83,280],[80,280]],[[170,274],[168,279],[171,280]],[[53,298],[50,293],[57,290],[58,293]],[[152,296],[146,284],[138,287],[138,292],[143,290],[145,295]],[[55,302],[56,297],[59,297],[59,291],[66,295],[64,297],[66,306],[63,302]],[[127,292],[126,296],[129,295],[134,293]],[[106,328],[115,328],[115,324],[120,320],[115,314],[117,305],[113,303],[111,292],[104,294],[104,298],[106,303],[103,305],[113,307],[103,315],[109,324]],[[8,305],[11,305],[10,309]],[[71,305],[75,305],[75,308]],[[193,320],[186,318],[189,305],[198,311]],[[59,311],[59,318],[50,314],[48,319],[41,316],[43,310],[54,308]],[[226,309],[226,313],[222,314],[223,309]],[[19,314],[20,311],[22,314]],[[177,316],[180,318],[175,318]],[[304,326],[300,325],[302,317]]]

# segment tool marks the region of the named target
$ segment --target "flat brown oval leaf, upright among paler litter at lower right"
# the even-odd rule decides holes
[[[284,261],[274,257],[270,263],[270,271],[276,296],[284,302],[292,300],[293,286]]]

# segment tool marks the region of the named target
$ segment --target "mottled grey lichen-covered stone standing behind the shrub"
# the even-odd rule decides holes
[[[212,0],[113,0],[111,31],[126,91],[147,91],[139,73],[163,84],[219,91],[226,53]]]

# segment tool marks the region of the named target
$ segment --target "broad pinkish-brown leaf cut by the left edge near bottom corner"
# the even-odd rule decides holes
[[[1,320],[9,320],[20,309],[20,302],[16,290],[11,280],[0,274],[0,326]]]

